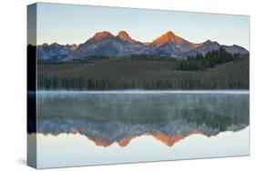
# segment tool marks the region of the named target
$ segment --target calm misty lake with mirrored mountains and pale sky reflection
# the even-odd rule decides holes
[[[37,166],[249,155],[249,91],[39,91]]]

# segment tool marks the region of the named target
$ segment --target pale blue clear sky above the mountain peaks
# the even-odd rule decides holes
[[[248,15],[216,15],[90,5],[37,4],[37,45],[81,44],[100,31],[125,30],[135,40],[151,42],[172,31],[190,42],[210,39],[249,49]]]

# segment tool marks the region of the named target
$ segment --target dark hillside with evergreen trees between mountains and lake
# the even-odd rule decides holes
[[[37,73],[38,89],[249,88],[248,55],[231,55],[221,47],[187,59],[154,55],[131,55],[119,59],[91,56],[62,64],[38,61],[38,65],[41,68]]]

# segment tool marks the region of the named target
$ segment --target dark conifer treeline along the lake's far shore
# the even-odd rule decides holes
[[[248,88],[245,82],[239,79],[222,81],[212,79],[158,79],[158,80],[124,80],[87,78],[85,76],[67,75],[39,75],[38,89],[66,89],[66,90],[124,90],[124,89],[240,89]]]

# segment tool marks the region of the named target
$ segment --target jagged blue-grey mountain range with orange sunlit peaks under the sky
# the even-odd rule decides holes
[[[98,32],[80,45],[43,44],[37,45],[37,57],[46,61],[69,61],[88,56],[119,57],[125,55],[157,55],[159,57],[187,58],[197,54],[205,55],[223,47],[230,54],[249,54],[240,45],[220,45],[207,40],[195,44],[169,31],[160,35],[151,43],[142,43],[132,39],[125,31],[112,35],[108,31]]]

